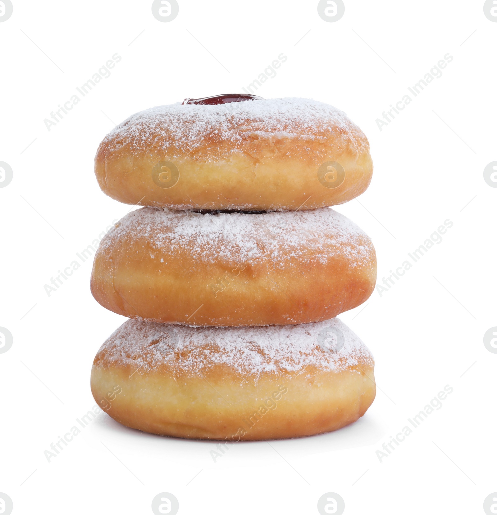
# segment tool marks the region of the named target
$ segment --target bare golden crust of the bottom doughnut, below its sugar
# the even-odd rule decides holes
[[[376,391],[372,368],[289,375],[257,387],[234,383],[226,375],[217,379],[195,378],[185,384],[164,375],[137,372],[130,377],[128,370],[93,366],[91,390],[98,405],[128,427],[164,436],[234,442],[335,431],[362,417]],[[110,400],[108,394],[115,393],[115,387],[122,392]]]

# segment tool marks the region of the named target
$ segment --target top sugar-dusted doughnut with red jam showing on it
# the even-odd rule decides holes
[[[359,127],[306,98],[226,94],[154,107],[115,127],[95,156],[104,193],[176,210],[316,209],[357,197],[372,173]]]

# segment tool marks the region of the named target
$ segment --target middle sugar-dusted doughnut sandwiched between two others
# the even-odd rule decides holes
[[[128,213],[95,253],[91,290],[130,318],[190,325],[316,322],[358,306],[376,281],[370,238],[330,208]]]

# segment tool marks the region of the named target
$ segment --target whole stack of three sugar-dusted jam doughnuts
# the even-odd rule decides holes
[[[94,298],[130,319],[95,356],[97,403],[141,431],[230,442],[365,414],[373,357],[335,317],[371,295],[376,255],[330,206],[372,170],[362,131],[309,99],[187,98],[111,131],[98,183],[143,207],[95,254]]]

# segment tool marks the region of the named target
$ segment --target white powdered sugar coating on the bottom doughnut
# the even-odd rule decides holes
[[[344,337],[338,351],[327,350]],[[328,338],[328,340],[326,340]],[[200,328],[128,320],[103,344],[95,365],[130,367],[140,374],[204,375],[225,366],[251,380],[266,374],[320,370],[341,372],[373,366],[373,356],[339,319],[299,325]],[[165,368],[164,368],[165,367]]]

